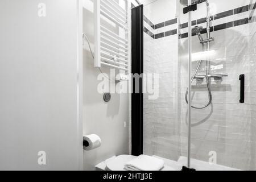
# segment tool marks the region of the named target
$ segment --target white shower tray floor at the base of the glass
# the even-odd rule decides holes
[[[168,168],[168,171],[180,171],[183,166],[187,166],[187,158],[184,156],[180,156],[178,161],[160,158],[159,156],[154,157],[164,160],[166,166],[170,167]],[[191,167],[197,171],[241,171],[240,169],[221,166],[218,164],[209,164],[196,159],[191,159]]]

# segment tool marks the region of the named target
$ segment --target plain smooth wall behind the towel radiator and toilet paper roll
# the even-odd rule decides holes
[[[92,48],[94,43],[93,0],[83,1],[83,31],[88,36]],[[117,31],[109,23],[107,26]],[[84,135],[97,134],[102,139],[102,145],[93,151],[84,151],[84,170],[94,170],[96,164],[114,155],[129,154],[129,94],[112,94],[112,100],[105,103],[103,94],[97,92],[101,81],[97,80],[101,73],[94,68],[94,60],[90,54],[87,42],[84,42]],[[110,77],[110,68],[102,67],[103,73]],[[118,73],[118,72],[116,72]],[[115,78],[110,85],[115,86]],[[117,85],[118,86],[118,85]]]

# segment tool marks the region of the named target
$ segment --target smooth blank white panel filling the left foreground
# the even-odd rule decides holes
[[[78,18],[78,1],[0,1],[1,170],[82,169]]]

